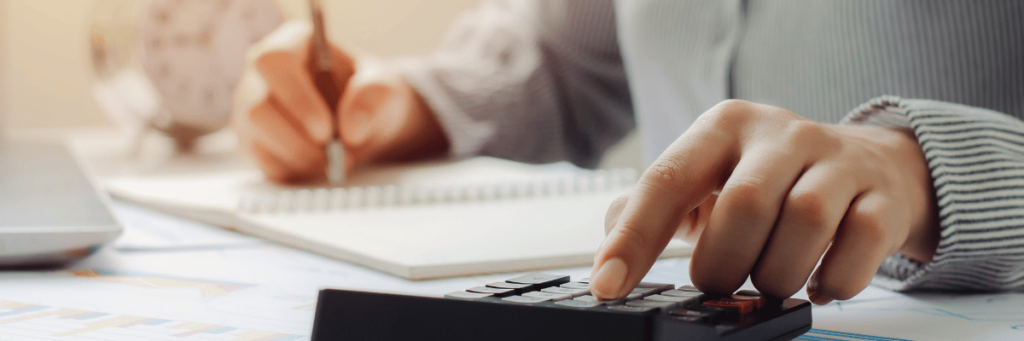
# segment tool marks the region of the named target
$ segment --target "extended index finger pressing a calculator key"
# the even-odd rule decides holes
[[[594,296],[625,297],[665,250],[682,218],[728,175],[735,142],[726,131],[707,126],[694,124],[641,176],[594,256]]]

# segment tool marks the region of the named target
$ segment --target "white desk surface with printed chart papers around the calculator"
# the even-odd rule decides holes
[[[440,296],[514,275],[412,282],[131,204],[115,211],[123,238],[71,268],[0,272],[0,339],[305,340],[321,288]],[[646,281],[687,284],[687,265],[663,260]],[[801,339],[1024,339],[1024,294],[869,288],[813,313]]]

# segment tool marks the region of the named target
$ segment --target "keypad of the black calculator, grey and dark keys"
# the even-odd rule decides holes
[[[761,293],[751,290],[717,296],[703,294],[689,285],[645,282],[638,284],[625,299],[601,301],[591,295],[589,286],[589,279],[569,282],[567,275],[535,272],[444,297],[623,313],[664,313],[675,321],[708,325],[735,322],[769,304]]]

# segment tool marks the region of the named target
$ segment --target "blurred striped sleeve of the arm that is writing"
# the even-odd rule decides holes
[[[609,0],[486,1],[394,67],[455,157],[593,167],[635,125]]]

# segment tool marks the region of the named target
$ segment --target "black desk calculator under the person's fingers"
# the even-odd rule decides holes
[[[325,289],[312,340],[788,340],[811,329],[811,304],[743,290],[641,283],[600,301],[587,279],[529,273],[444,298]]]

